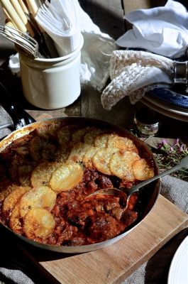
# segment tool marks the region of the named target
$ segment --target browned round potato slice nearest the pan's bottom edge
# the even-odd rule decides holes
[[[33,208],[23,220],[23,231],[29,239],[46,239],[55,228],[52,214],[43,208]]]

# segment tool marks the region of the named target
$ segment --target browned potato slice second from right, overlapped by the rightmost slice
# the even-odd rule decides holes
[[[114,153],[109,162],[111,173],[123,180],[135,180],[132,171],[132,164],[139,158],[140,157],[137,153],[131,151],[118,151],[117,153]]]

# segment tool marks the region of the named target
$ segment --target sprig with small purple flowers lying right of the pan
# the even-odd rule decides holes
[[[188,146],[186,143],[176,139],[174,145],[170,145],[167,141],[162,140],[161,143],[157,144],[157,153],[155,158],[160,167],[160,170],[167,170],[177,165],[179,161],[188,155]],[[188,170],[181,169],[171,175],[176,178],[188,181]]]

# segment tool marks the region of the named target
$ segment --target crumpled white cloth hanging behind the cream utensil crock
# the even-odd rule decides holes
[[[79,2],[74,1],[77,2],[79,25],[84,37],[80,68],[81,84],[90,84],[94,89],[101,91],[109,78],[109,62],[117,45],[110,35],[101,32]]]

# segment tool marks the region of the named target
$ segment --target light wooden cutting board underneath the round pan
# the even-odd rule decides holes
[[[143,222],[111,246],[77,255],[38,253],[33,247],[27,253],[37,266],[50,273],[54,279],[50,283],[121,283],[187,226],[188,215],[160,195]]]

